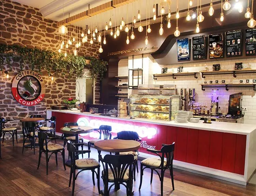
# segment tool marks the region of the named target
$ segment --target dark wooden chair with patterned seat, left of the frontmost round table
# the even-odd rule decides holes
[[[93,158],[77,159],[80,154],[89,153],[90,150],[76,150],[75,146],[81,146],[83,144],[73,144],[71,141],[67,141],[67,144],[68,144],[68,151],[69,151],[70,160],[71,160],[69,187],[71,185],[71,179],[73,176],[72,196],[74,195],[75,180],[77,176],[80,174],[80,172],[86,171],[86,170],[91,170],[93,175],[94,186],[95,186],[94,174],[96,174],[98,191],[100,194],[100,163]],[[76,169],[80,169],[80,171],[77,172],[77,174],[75,174]],[[97,172],[95,171],[96,169],[97,169]]]

